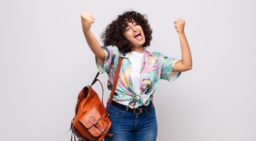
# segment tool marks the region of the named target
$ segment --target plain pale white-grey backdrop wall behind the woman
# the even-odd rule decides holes
[[[256,141],[255,0],[1,0],[1,141],[70,141],[77,95],[97,74],[80,14],[99,34],[117,15],[146,13],[148,51],[181,58],[186,21],[193,69],[155,92],[157,141]],[[99,79],[107,90],[107,74]],[[99,94],[99,83],[94,85]]]

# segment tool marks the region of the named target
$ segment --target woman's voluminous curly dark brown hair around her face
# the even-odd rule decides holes
[[[131,43],[124,37],[123,32],[125,27],[128,26],[128,22],[132,22],[132,19],[140,25],[144,31],[145,43],[143,47],[148,47],[152,40],[152,29],[148,23],[148,16],[136,11],[126,11],[122,15],[119,15],[116,20],[113,20],[101,33],[101,41],[104,46],[115,45],[121,51],[132,51],[133,47]]]

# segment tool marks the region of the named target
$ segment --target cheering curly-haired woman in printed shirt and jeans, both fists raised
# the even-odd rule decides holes
[[[153,93],[159,79],[175,81],[181,72],[192,69],[191,52],[184,34],[185,21],[177,19],[182,60],[168,58],[162,53],[149,52],[152,29],[146,14],[126,11],[101,34],[103,47],[90,31],[94,18],[90,12],[81,14],[85,39],[96,56],[100,73],[107,72],[108,89],[112,90],[119,56],[123,57],[119,80],[110,107],[112,122],[106,141],[155,141],[157,120]],[[120,53],[122,51],[122,53]],[[106,106],[108,109],[108,104]]]

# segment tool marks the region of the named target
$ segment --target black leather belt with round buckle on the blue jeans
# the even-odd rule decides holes
[[[126,105],[122,105],[118,102],[112,101],[111,105],[114,105],[115,107],[118,107],[121,110],[126,110]],[[141,114],[141,113],[145,112],[145,107],[146,107],[146,110],[151,109],[153,107],[153,102],[150,101],[149,105],[147,105],[147,106],[142,105],[135,109],[132,109],[129,107],[128,112],[132,112],[133,114]]]

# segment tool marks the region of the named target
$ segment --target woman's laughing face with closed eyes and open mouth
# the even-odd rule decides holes
[[[145,35],[142,27],[133,19],[132,22],[128,22],[128,26],[125,27],[123,35],[133,47],[143,47],[145,43]]]

